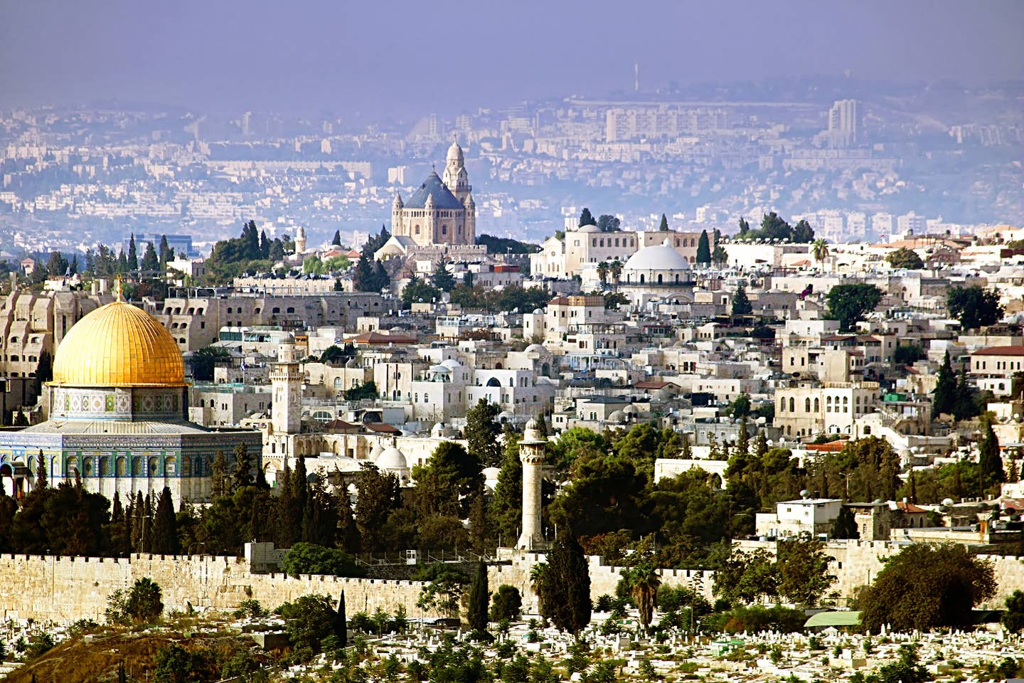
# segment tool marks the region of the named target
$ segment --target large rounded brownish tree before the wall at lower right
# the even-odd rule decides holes
[[[964,628],[972,608],[995,594],[991,564],[965,546],[915,543],[886,560],[860,599],[861,625],[877,632]]]

